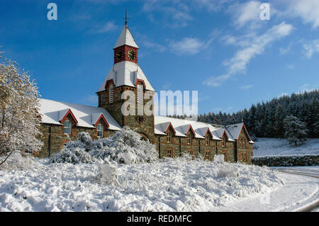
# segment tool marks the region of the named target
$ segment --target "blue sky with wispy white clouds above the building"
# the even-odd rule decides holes
[[[57,21],[47,4],[57,4]],[[198,113],[319,88],[319,1],[3,1],[4,57],[28,69],[43,98],[96,106],[128,26],[155,90],[198,91]]]

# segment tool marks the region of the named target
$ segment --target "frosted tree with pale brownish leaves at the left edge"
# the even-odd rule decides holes
[[[41,135],[36,84],[6,60],[0,64],[0,88],[0,154],[37,151],[43,143],[36,138]]]

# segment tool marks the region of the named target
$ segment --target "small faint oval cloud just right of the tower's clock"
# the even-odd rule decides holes
[[[205,43],[198,38],[183,38],[181,41],[171,41],[169,46],[177,55],[196,55],[205,47]]]

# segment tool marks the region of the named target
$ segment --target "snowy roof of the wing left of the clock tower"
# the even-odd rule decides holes
[[[106,111],[105,108],[79,105],[75,103],[65,103],[60,101],[51,101],[40,98],[40,110],[42,123],[62,125],[60,120],[65,114],[71,111],[74,118],[77,119],[77,126],[84,128],[95,128],[94,124],[101,115],[106,119],[109,130],[121,130],[116,120]]]

